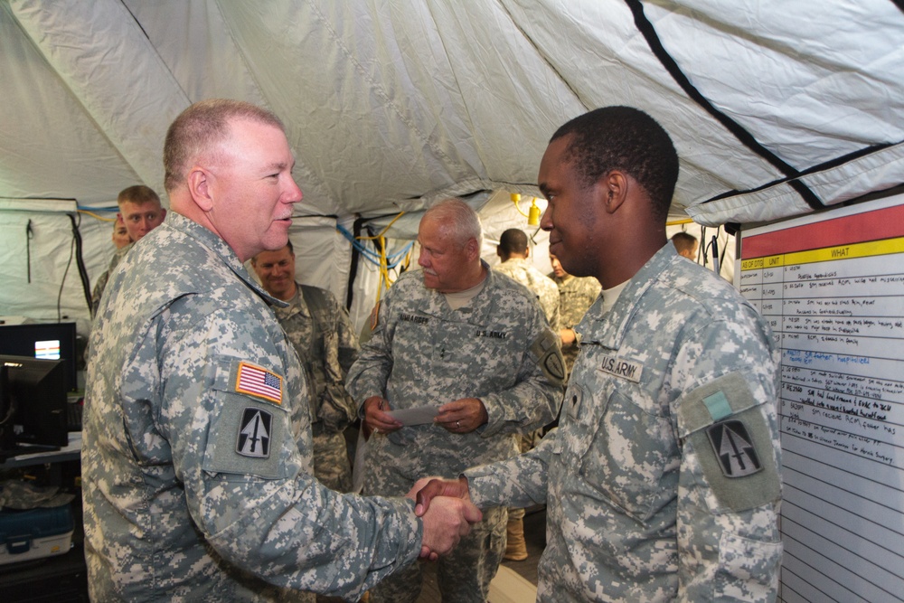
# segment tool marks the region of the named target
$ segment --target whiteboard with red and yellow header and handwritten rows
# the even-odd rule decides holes
[[[781,348],[778,600],[904,601],[904,195],[742,232]]]

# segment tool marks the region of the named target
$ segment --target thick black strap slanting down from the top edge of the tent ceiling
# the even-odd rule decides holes
[[[653,24],[646,18],[644,5],[640,0],[625,0],[625,3],[631,10],[631,13],[634,14],[634,23],[637,26],[637,30],[644,35],[646,43],[650,46],[650,50],[653,51],[654,56],[662,63],[665,71],[668,71],[673,80],[681,86],[682,90],[684,90],[694,102],[705,109],[707,113],[719,121],[722,126],[726,127],[731,134],[738,138],[741,144],[747,146],[751,151],[767,160],[769,164],[777,168],[782,174],[785,174],[788,177],[788,184],[801,196],[807,205],[814,210],[823,209],[824,204],[819,200],[819,197],[817,197],[804,183],[794,179],[800,175],[796,168],[786,164],[781,157],[774,154],[765,146],[762,146],[756,137],[750,134],[747,129],[742,127],[734,119],[725,115],[718,108],[715,108],[710,100],[704,97],[700,90],[697,90],[694,87],[691,80],[688,79],[678,66],[677,61],[675,61],[672,58],[672,55],[665,50],[663,42],[659,39],[659,35],[656,33]]]

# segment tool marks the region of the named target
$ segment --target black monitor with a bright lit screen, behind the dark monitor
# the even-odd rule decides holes
[[[78,387],[75,323],[0,325],[0,354],[63,363],[66,390]]]

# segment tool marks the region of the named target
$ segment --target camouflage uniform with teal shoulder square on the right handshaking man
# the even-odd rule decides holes
[[[770,601],[781,496],[766,323],[671,243],[601,316],[559,429],[466,472],[477,506],[546,503],[540,601]]]

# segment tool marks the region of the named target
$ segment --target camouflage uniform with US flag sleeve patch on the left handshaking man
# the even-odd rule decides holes
[[[297,354],[226,243],[172,214],[111,276],[91,334],[82,448],[94,601],[357,598],[417,559],[404,499],[311,475]]]

